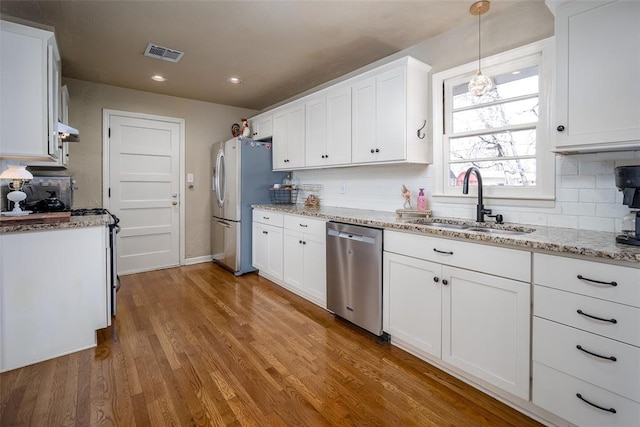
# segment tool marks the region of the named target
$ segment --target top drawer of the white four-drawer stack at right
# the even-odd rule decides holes
[[[533,280],[538,285],[640,307],[638,268],[534,254]],[[611,286],[611,282],[616,286]]]

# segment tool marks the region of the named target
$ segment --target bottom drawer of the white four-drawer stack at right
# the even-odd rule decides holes
[[[598,409],[578,398],[588,400]],[[630,427],[640,424],[640,404],[541,363],[533,363],[533,403],[579,426]]]

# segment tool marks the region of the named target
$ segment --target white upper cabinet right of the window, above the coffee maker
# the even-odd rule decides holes
[[[557,152],[640,146],[640,2],[556,9]]]

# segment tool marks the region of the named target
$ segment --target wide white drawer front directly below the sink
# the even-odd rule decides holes
[[[527,251],[387,230],[384,250],[523,282],[531,280],[531,253]]]

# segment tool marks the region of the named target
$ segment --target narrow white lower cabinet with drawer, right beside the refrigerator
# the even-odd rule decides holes
[[[282,280],[282,214],[253,211],[253,266],[271,280]]]

